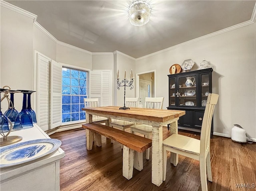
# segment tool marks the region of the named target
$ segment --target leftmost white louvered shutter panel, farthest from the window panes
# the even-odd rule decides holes
[[[38,105],[37,120],[38,126],[46,131],[50,126],[49,122],[49,73],[50,60],[38,55]]]

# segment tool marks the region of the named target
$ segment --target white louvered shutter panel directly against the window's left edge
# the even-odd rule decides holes
[[[62,112],[62,65],[52,60],[51,63],[51,126],[50,128],[56,128],[61,125],[61,112]]]

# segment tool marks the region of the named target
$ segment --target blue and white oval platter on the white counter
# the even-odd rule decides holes
[[[0,167],[26,163],[57,150],[61,145],[58,139],[37,139],[0,148]]]

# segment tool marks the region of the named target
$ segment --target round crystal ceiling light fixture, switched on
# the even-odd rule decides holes
[[[150,6],[144,1],[135,1],[129,7],[130,23],[134,26],[142,26],[148,23]]]

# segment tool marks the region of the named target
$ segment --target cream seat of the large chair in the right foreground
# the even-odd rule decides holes
[[[200,154],[200,140],[191,137],[172,134],[163,141],[165,146],[169,146],[181,151],[186,151],[192,154]]]

